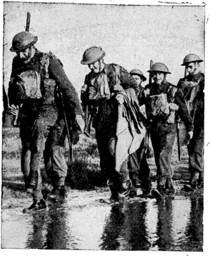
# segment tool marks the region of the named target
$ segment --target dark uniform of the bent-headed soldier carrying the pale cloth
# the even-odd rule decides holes
[[[103,181],[107,179],[120,191],[122,184],[129,181],[127,160],[115,171],[116,124],[118,102],[116,94],[122,89],[137,89],[130,74],[120,65],[105,64],[99,73],[90,72],[85,77],[86,91],[81,94],[83,105],[91,105],[94,113],[93,127],[96,130],[97,146]],[[116,185],[118,184],[118,185]],[[111,185],[110,185],[111,186]],[[118,186],[118,188],[116,188]]]

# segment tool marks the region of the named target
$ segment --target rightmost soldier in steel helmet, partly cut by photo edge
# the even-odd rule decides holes
[[[181,64],[186,67],[188,75],[177,84],[183,91],[194,125],[193,139],[188,143],[191,176],[189,185],[184,187],[186,191],[203,188],[204,181],[204,74],[200,68],[202,61],[199,56],[188,54]]]

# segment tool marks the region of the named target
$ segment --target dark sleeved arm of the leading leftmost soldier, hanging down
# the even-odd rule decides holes
[[[53,79],[55,79],[59,90],[61,90],[64,95],[64,100],[68,105],[67,111],[71,110],[71,113],[74,113],[75,115],[83,115],[83,110],[80,105],[76,89],[66,76],[62,63],[59,59],[55,57],[50,58],[49,74],[52,75]]]

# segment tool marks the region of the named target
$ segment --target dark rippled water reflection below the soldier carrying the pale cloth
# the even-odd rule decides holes
[[[102,235],[102,250],[148,250],[146,202],[113,205]]]

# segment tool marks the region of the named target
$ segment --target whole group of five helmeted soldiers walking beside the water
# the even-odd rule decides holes
[[[190,53],[183,59],[188,75],[177,86],[167,82],[167,66],[154,63],[148,70],[153,82],[143,87],[146,77],[141,70],[127,72],[120,65],[106,64],[106,53],[92,46],[81,60],[90,73],[79,99],[60,60],[51,52],[38,51],[36,41],[34,34],[20,32],[10,49],[17,55],[8,88],[9,111],[19,116],[21,169],[26,190],[34,198],[25,212],[47,207],[46,198],[64,196],[66,133],[71,127],[73,141],[78,141],[85,130],[83,110],[88,110],[95,129],[102,186],[109,185],[113,200],[136,196],[139,186],[144,196],[174,194],[172,149],[177,124],[182,122],[191,173],[184,189],[203,186],[204,75],[198,56]],[[148,136],[157,166],[153,189],[146,160]],[[42,159],[52,189],[41,175]]]

